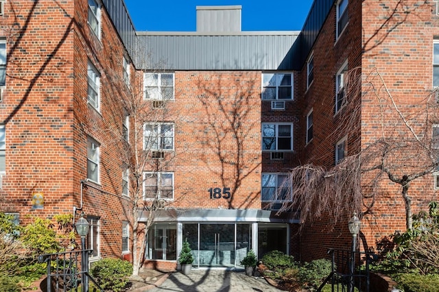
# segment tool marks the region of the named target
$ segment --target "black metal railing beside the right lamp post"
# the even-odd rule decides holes
[[[318,292],[326,284],[331,284],[332,292],[369,292],[372,253],[330,249],[328,254],[331,256],[332,271],[318,287]]]

